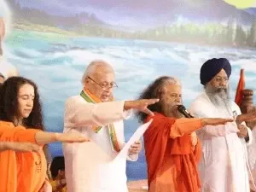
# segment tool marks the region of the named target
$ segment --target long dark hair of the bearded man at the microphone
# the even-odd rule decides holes
[[[148,106],[152,112],[164,113],[162,108],[162,96],[164,94],[163,87],[167,81],[174,80],[169,76],[162,76],[158,79],[155,79],[152,84],[149,84],[148,87],[143,90],[143,93],[139,96],[139,99],[154,99],[159,98],[160,102],[156,102],[153,105]],[[137,118],[141,123],[147,118],[148,114],[143,112],[137,112]]]

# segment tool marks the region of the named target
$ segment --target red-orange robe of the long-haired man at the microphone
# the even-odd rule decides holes
[[[144,133],[148,164],[149,192],[199,192],[197,163],[201,158],[199,139],[192,145],[193,131],[202,127],[201,119],[173,119],[154,113]]]

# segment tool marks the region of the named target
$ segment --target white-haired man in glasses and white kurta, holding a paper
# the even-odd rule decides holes
[[[130,109],[153,113],[147,106],[158,102],[138,100],[113,102],[113,68],[105,61],[93,61],[87,67],[79,96],[66,102],[64,132],[79,132],[90,137],[106,154],[114,157],[125,145],[123,119],[129,118]],[[131,146],[128,160],[136,161],[141,143]],[[94,160],[86,153],[85,145],[63,146],[68,192],[127,192],[126,160],[116,160],[111,167],[91,168]]]

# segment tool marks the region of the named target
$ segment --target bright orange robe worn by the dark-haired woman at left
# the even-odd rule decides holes
[[[0,142],[36,143],[38,131],[0,121]],[[38,192],[47,177],[46,172],[43,149],[26,153],[3,151],[0,153],[0,192]]]

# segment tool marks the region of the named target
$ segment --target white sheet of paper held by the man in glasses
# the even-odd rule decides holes
[[[144,132],[147,131],[148,126],[152,123],[152,121],[153,121],[153,119],[149,120],[148,123],[146,123],[146,124],[140,125],[137,128],[137,131],[135,131],[135,133],[131,136],[129,141],[127,143],[125,143],[124,148],[122,148],[122,150],[119,152],[119,154],[116,155],[114,160],[116,160],[117,158],[123,158],[123,159],[127,158],[128,150],[131,147],[131,145],[133,143],[137,142],[141,137],[143,137]]]

